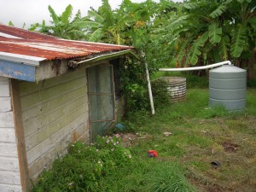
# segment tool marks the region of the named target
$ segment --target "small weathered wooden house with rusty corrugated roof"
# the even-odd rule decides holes
[[[69,143],[90,142],[116,120],[131,54],[0,24],[0,192],[29,191]]]

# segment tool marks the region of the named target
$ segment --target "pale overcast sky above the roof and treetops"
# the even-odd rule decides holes
[[[175,2],[181,2],[183,0],[176,0]],[[108,1],[112,9],[117,9],[122,0],[109,0]],[[131,0],[133,3],[141,3],[144,0]],[[160,2],[160,0],[154,0],[154,2]],[[68,4],[73,6],[73,15],[80,9],[82,16],[87,15],[87,10],[90,7],[98,9],[101,6],[101,0],[0,0],[0,22],[8,24],[9,20],[15,24],[15,26],[21,27],[23,23],[26,23],[26,28],[32,23],[42,20],[49,21],[48,5],[55,9],[57,15],[65,10]]]

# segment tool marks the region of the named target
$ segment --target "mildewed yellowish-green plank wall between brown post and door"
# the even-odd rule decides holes
[[[38,83],[20,82],[20,103],[33,180],[69,143],[89,140],[85,69]]]

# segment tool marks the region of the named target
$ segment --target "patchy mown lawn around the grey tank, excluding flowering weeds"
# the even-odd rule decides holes
[[[186,102],[157,109],[154,116],[132,114],[145,138],[131,151],[143,155],[155,149],[155,161],[182,165],[196,191],[256,191],[256,90],[247,90],[247,109],[241,113],[207,107],[208,90],[190,89]],[[212,167],[217,160],[220,166]]]

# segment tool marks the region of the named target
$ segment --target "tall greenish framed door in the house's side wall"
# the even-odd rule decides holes
[[[88,90],[90,102],[90,137],[102,136],[113,123],[114,87],[113,68],[110,65],[90,67],[88,74]]]

